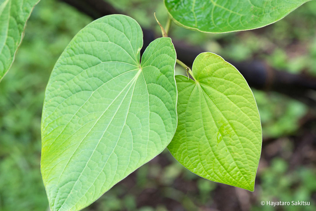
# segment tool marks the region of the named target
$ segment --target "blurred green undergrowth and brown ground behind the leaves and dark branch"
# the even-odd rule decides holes
[[[153,12],[166,21],[162,0],[110,0],[159,33]],[[48,210],[40,175],[40,118],[53,65],[92,19],[56,0],[42,0],[27,23],[14,65],[0,83],[0,211]],[[264,28],[203,34],[173,25],[169,36],[203,46],[225,59],[264,60],[271,67],[316,76],[316,1]],[[183,74],[181,67],[176,67]],[[191,173],[165,150],[85,210],[316,210],[315,111],[278,93],[252,89],[263,127],[254,192]],[[261,201],[306,201],[271,207]]]

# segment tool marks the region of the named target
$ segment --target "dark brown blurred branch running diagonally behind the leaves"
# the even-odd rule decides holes
[[[122,14],[104,0],[60,1],[70,4],[94,19],[111,14]],[[143,34],[144,45],[142,52],[151,41],[158,37],[152,30],[144,28]],[[202,48],[189,46],[185,42],[174,39],[173,44],[177,52],[177,58],[189,66],[192,65],[199,53],[205,52]],[[316,108],[316,77],[275,70],[256,60],[242,63],[229,62],[240,71],[250,86],[259,90],[277,91]]]

